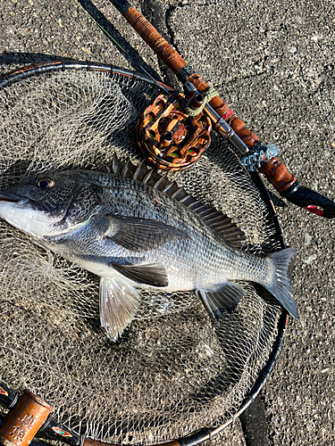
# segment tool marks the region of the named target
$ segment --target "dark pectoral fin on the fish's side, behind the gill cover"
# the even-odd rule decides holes
[[[190,240],[188,234],[161,221],[132,217],[106,216],[110,225],[105,236],[130,251],[149,251],[169,240]]]

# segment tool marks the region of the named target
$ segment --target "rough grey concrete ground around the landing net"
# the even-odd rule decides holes
[[[158,1],[162,27],[184,59],[264,142],[279,145],[281,159],[302,185],[335,200],[334,2]],[[0,8],[1,69],[69,57],[138,70],[141,63],[160,72],[155,54],[108,0],[82,3],[102,14],[110,34],[128,50],[126,57],[74,0],[7,0]],[[334,223],[291,204],[279,208],[279,215],[287,244],[298,248],[294,288],[300,321],[289,320],[263,392],[270,444],[330,445],[335,438]],[[223,442],[245,444],[239,422]]]

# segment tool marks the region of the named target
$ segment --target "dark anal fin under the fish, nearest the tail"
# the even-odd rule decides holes
[[[241,286],[232,282],[225,282],[217,291],[197,290],[197,295],[214,320],[221,318],[224,312],[234,310],[245,294],[246,291]]]

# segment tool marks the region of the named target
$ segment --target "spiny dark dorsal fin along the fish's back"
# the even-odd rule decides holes
[[[148,169],[147,161],[143,160],[138,166],[134,166],[130,161],[122,163],[114,154],[112,172],[122,177],[137,179],[141,183],[163,192],[163,194],[170,195],[174,200],[194,211],[203,219],[206,226],[222,235],[224,240],[234,248],[240,248],[246,244],[246,235],[227,215],[197,201],[184,188],[178,186],[174,181],[170,181],[166,174],[161,175],[155,169]]]

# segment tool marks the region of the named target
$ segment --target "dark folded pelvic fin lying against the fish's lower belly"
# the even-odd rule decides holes
[[[147,263],[144,265],[117,265],[116,269],[122,276],[137,282],[138,285],[151,285],[161,288],[169,285],[166,268],[160,263]]]

